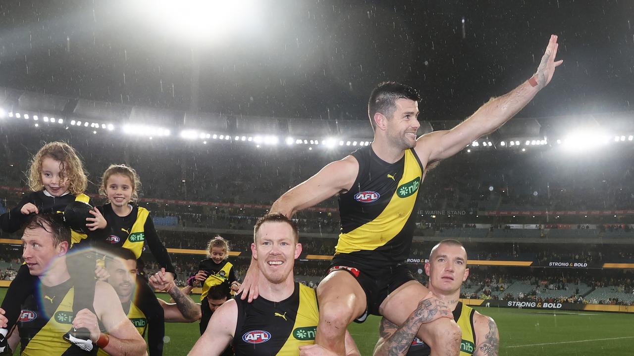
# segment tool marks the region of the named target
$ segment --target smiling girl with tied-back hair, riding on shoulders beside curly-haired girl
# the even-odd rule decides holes
[[[133,168],[126,165],[111,165],[103,173],[100,186],[100,193],[107,196],[109,202],[98,209],[108,222],[110,231],[110,236],[107,238],[108,248],[127,248],[133,251],[138,260],[139,275],[136,281],[138,295],[135,300],[150,302],[135,305],[148,319],[148,345],[150,355],[155,356],[162,354],[165,333],[164,312],[147,279],[141,277],[145,275],[143,260],[141,260],[143,247],[147,245],[150,248],[152,255],[164,269],[165,274],[162,279],[166,285],[174,283],[176,269],[159,239],[150,212],[133,203],[138,197],[140,184],[136,170]]]

